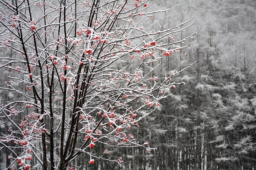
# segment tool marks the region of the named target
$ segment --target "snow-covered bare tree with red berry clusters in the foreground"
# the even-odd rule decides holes
[[[0,47],[15,53],[0,65],[8,72],[1,89],[15,93],[0,107],[1,126],[9,127],[0,144],[17,148],[11,164],[31,169],[36,159],[44,170],[62,170],[87,154],[89,164],[121,165],[106,147],[155,149],[126,130],[170,95],[177,69],[165,78],[155,70],[185,47],[175,44],[193,38],[197,31],[180,41],[173,36],[196,20],[147,32],[143,24],[167,10],[148,11],[145,0],[1,3]],[[95,151],[102,144],[103,155]]]

